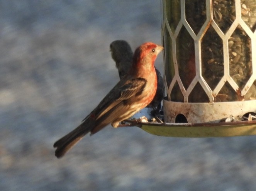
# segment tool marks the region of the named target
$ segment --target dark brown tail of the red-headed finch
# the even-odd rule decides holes
[[[89,123],[88,123],[89,122]],[[78,141],[83,138],[87,133],[89,133],[93,128],[92,121],[84,121],[79,125],[75,130],[71,131],[67,135],[60,138],[53,144],[54,148],[57,148],[55,151],[55,156],[61,158],[66,154],[66,152],[71,149]]]

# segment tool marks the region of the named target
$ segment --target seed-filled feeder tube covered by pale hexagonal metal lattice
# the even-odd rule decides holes
[[[169,101],[256,100],[256,1],[163,0]]]

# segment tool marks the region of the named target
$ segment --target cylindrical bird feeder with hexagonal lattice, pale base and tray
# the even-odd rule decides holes
[[[256,1],[163,0],[165,124],[161,136],[256,135]],[[177,124],[183,123],[183,124]]]

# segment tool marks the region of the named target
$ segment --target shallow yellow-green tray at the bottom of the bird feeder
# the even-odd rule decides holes
[[[137,125],[152,135],[168,137],[229,137],[256,135],[256,121],[228,123],[144,123]]]

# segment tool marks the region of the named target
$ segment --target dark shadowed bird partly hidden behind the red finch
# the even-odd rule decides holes
[[[110,43],[110,51],[111,56],[115,61],[115,66],[118,69],[119,77],[122,79],[127,73],[129,73],[132,66],[132,48],[125,40],[115,40]],[[161,101],[164,98],[164,80],[156,67],[155,70],[157,76],[156,95],[147,107],[153,108],[154,114],[157,114],[161,109]]]

